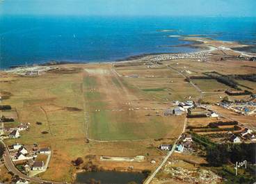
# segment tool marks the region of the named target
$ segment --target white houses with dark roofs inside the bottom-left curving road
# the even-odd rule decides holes
[[[38,149],[37,144],[33,144],[33,146],[27,145],[24,147],[24,145],[16,143],[10,146],[8,149],[13,162],[24,163],[24,172],[30,172],[31,170],[43,171],[45,169],[45,162],[37,161],[36,158],[38,157],[38,154],[45,154],[48,156],[51,155],[51,150],[49,148]]]

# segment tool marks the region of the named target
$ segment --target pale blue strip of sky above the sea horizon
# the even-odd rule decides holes
[[[0,15],[256,17],[256,0],[0,0]]]

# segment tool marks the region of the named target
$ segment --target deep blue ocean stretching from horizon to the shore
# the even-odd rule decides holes
[[[0,69],[57,61],[113,61],[145,53],[196,51],[200,35],[256,44],[255,17],[75,17],[0,15]],[[184,45],[184,47],[175,47]]]

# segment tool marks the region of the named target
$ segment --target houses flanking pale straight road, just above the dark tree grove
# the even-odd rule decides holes
[[[176,147],[175,147],[175,153],[182,153],[184,149],[190,149],[192,145],[192,137],[190,134],[182,134],[181,138],[179,139]],[[161,150],[170,150],[172,149],[172,145],[170,144],[161,144],[160,146]]]

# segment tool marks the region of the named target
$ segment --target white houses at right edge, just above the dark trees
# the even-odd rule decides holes
[[[243,140],[256,141],[256,137],[253,134],[253,130],[245,128],[239,135],[232,134],[229,140],[233,143],[241,143]]]

